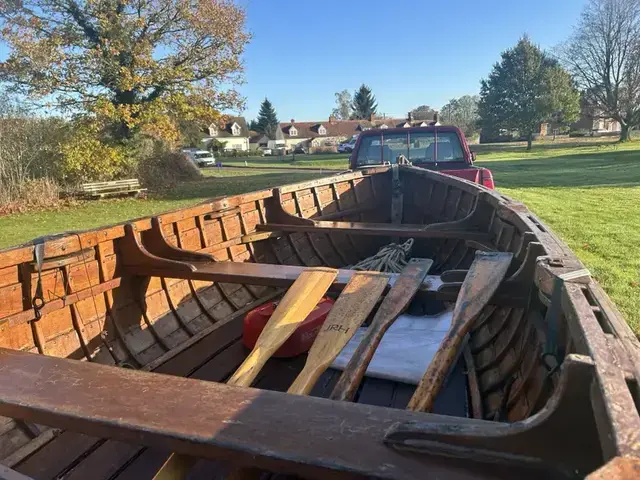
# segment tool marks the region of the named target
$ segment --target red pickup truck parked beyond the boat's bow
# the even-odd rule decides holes
[[[373,165],[392,165],[404,156],[415,167],[437,170],[493,189],[493,175],[475,167],[475,153],[458,127],[387,128],[360,134],[351,153],[352,169]]]

